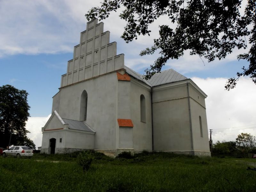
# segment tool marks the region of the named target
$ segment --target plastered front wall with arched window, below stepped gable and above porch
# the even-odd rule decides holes
[[[96,132],[95,149],[116,149],[116,72],[61,88],[56,110],[61,118],[79,121],[84,90],[88,94],[86,124]],[[57,99],[54,102],[58,103]]]

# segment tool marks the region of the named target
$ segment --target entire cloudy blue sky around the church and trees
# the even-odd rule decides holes
[[[67,71],[67,61],[73,59],[74,46],[79,44],[80,32],[88,22],[84,14],[99,6],[100,0],[0,0],[0,86],[13,85],[26,90],[30,117],[26,128],[28,137],[36,147],[42,144],[41,127],[52,111],[52,96],[58,92],[61,75]],[[112,12],[104,22],[104,31],[110,31],[110,42],[117,42],[117,54],[124,53],[125,65],[144,73],[159,56],[139,56],[141,50],[153,45],[159,36],[158,26],[170,24],[160,17],[149,26],[150,36],[139,36],[126,44],[120,37],[125,21],[118,12]],[[171,24],[170,24],[171,25]],[[229,77],[248,66],[238,61],[237,54],[246,50],[233,50],[223,60],[208,63],[196,55],[185,52],[178,60],[169,60],[163,69],[173,68],[191,78],[207,95],[206,113],[212,140],[234,141],[242,132],[256,136],[256,85],[248,77],[240,78],[235,89],[226,91]]]

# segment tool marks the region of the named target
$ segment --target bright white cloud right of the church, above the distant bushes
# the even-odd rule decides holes
[[[246,132],[256,136],[256,86],[251,79],[242,77],[236,88],[226,91],[225,78],[191,78],[207,95],[208,129],[213,129],[213,142],[235,140]]]

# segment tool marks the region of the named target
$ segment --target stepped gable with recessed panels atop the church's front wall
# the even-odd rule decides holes
[[[124,54],[116,55],[116,42],[109,43],[110,32],[103,32],[103,27],[98,19],[87,23],[67,73],[61,76],[61,87],[124,68]]]

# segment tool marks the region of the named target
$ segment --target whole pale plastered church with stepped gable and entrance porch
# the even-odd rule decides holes
[[[173,69],[150,80],[124,65],[98,19],[87,23],[42,127],[41,153],[94,149],[210,156],[205,98]]]

